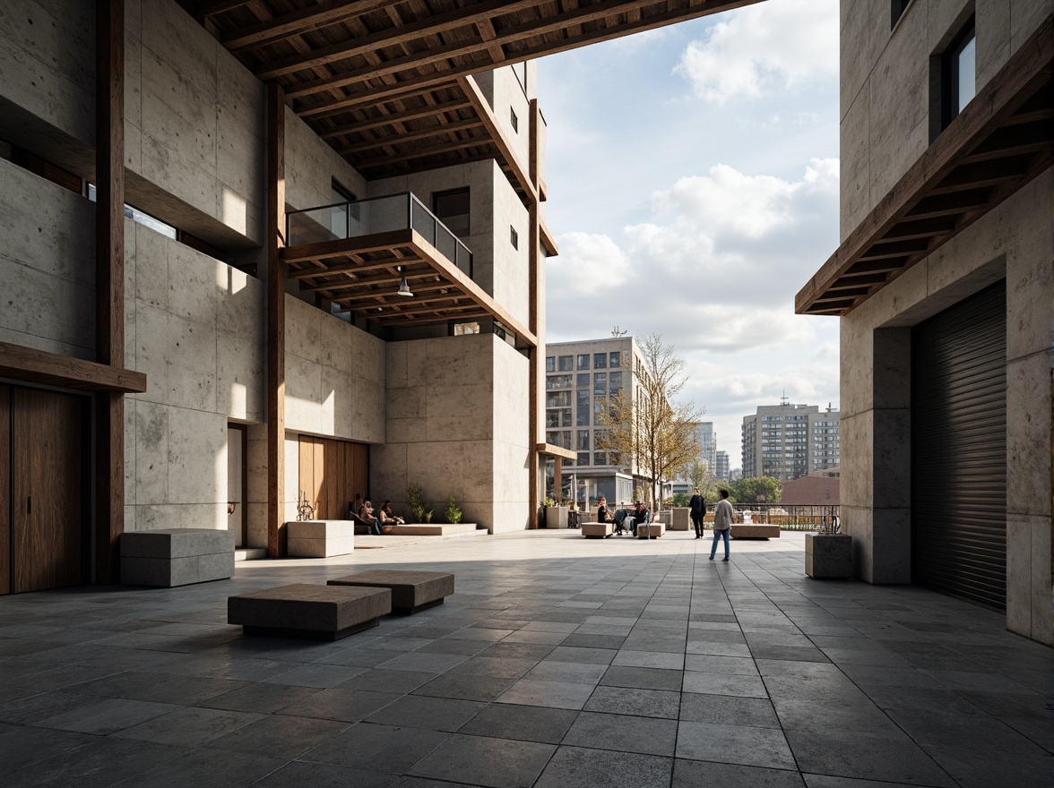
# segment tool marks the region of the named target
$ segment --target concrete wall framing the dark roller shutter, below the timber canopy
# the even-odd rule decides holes
[[[911,327],[1007,279],[1007,623],[1054,644],[1054,171],[841,320],[842,515],[858,576],[911,580]]]

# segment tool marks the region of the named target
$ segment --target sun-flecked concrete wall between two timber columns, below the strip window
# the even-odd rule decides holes
[[[264,285],[131,219],[124,233],[124,360],[148,386],[125,399],[124,530],[226,529],[228,421],[265,418]]]

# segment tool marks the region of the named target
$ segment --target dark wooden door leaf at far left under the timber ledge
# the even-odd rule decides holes
[[[83,400],[15,389],[14,590],[82,582]]]

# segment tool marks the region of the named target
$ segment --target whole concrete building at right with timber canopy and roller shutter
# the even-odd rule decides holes
[[[1054,6],[842,2],[843,530],[868,583],[1051,607]]]

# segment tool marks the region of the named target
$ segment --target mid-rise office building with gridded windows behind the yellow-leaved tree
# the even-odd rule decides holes
[[[581,342],[549,342],[545,347],[545,440],[574,452],[574,459],[561,464],[563,495],[601,495],[609,500],[631,500],[640,484],[632,458],[612,457],[598,446],[596,414],[608,397],[620,392],[630,399],[639,385],[633,370],[644,363],[631,336],[589,339]],[[624,465],[625,460],[629,465]],[[555,474],[555,461],[547,468],[547,486]],[[571,495],[570,485],[578,486]]]

